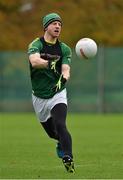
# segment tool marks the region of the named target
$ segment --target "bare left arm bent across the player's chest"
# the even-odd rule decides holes
[[[35,53],[35,54],[31,54],[29,56],[29,61],[32,65],[32,67],[34,68],[47,68],[48,66],[48,61],[40,58],[40,54],[39,53]]]

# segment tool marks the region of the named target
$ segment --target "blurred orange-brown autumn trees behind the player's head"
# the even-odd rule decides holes
[[[24,50],[43,33],[42,17],[59,13],[60,39],[71,47],[82,37],[123,46],[123,0],[0,0],[0,50]]]

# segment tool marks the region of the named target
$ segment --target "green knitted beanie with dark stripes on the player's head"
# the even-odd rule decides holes
[[[56,13],[50,13],[43,17],[43,27],[44,29],[48,27],[48,25],[54,21],[59,21],[62,23],[61,17]]]

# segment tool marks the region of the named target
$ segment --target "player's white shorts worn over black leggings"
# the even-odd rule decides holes
[[[64,103],[67,105],[67,91],[63,89],[50,99],[42,99],[32,94],[32,102],[39,121],[46,122],[51,117],[51,110],[56,104]]]

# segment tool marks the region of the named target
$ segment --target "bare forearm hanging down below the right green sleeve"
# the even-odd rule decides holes
[[[62,75],[66,80],[70,78],[70,66],[68,64],[62,64]]]

